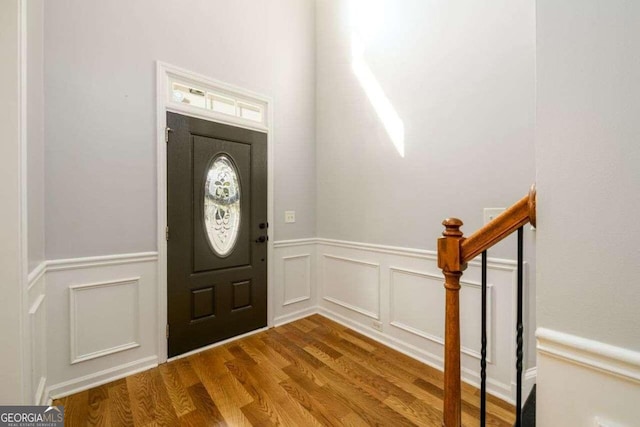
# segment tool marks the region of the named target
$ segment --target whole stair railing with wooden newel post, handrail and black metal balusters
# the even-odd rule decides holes
[[[520,426],[522,408],[522,267],[523,267],[523,226],[536,225],[536,188],[531,186],[529,194],[516,204],[498,215],[491,222],[473,233],[463,237],[460,227],[462,221],[447,218],[442,237],[438,239],[438,267],[445,277],[446,314],[444,338],[444,407],[443,425],[460,427],[461,425],[461,376],[460,376],[460,277],[467,262],[482,254],[482,349],[480,361],[480,417],[481,426],[486,416],[486,271],[487,249],[500,242],[513,232],[518,232],[518,307],[516,324],[516,426]]]

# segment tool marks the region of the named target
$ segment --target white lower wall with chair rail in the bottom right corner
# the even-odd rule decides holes
[[[536,422],[637,426],[640,352],[539,328]]]

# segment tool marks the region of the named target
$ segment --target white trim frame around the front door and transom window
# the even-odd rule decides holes
[[[196,84],[203,84],[213,88],[219,88],[245,98],[249,102],[257,102],[265,106],[265,118],[267,126],[261,126],[257,122],[238,119],[213,111],[199,108],[189,108],[187,106],[169,103],[167,100],[167,84],[170,76],[179,79],[193,81]],[[165,327],[167,325],[167,241],[165,239],[165,229],[167,226],[167,151],[165,128],[167,126],[167,111],[179,112],[181,114],[202,118],[218,123],[230,124],[232,126],[257,130],[267,133],[267,222],[274,224],[274,129],[273,129],[273,100],[244,88],[212,79],[202,74],[194,73],[180,67],[176,67],[165,62],[156,62],[156,168],[157,168],[157,241],[158,241],[158,300],[157,300],[157,343],[158,360],[163,363],[167,360],[167,338]],[[197,111],[196,111],[197,110]],[[274,260],[273,260],[273,228],[267,229],[267,325],[273,325],[274,317]]]

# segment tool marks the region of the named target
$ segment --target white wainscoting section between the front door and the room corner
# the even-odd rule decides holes
[[[316,241],[281,240],[273,243],[273,324],[281,325],[315,313]]]

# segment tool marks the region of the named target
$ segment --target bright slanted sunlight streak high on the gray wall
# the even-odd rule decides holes
[[[400,157],[404,157],[404,123],[389,101],[380,82],[364,58],[364,41],[371,38],[382,23],[380,0],[352,0],[351,66],[369,102],[382,122]]]

